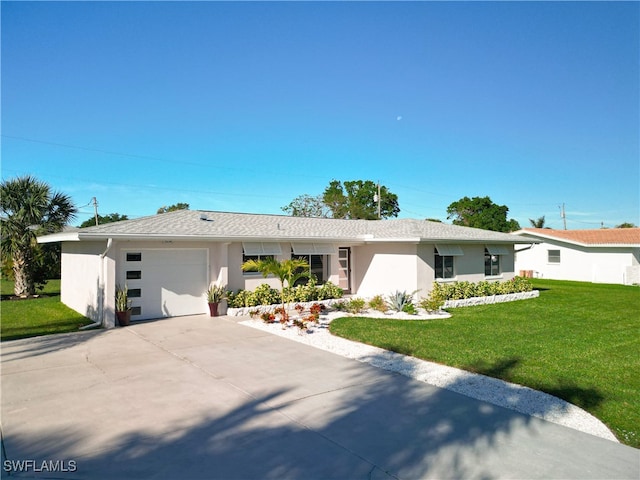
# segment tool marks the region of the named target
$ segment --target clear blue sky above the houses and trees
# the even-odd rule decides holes
[[[373,180],[521,226],[640,224],[640,3],[2,2],[2,178],[79,221],[283,213]],[[76,223],[79,223],[76,222]]]

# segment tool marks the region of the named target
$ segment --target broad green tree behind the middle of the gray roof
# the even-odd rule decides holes
[[[333,218],[375,220],[378,218],[378,186],[371,180],[332,180],[322,194],[322,201]],[[380,186],[380,218],[397,217],[398,196]]]

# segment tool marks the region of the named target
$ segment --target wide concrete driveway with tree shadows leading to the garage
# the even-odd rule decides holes
[[[17,478],[576,478],[640,451],[229,317],[2,344]]]

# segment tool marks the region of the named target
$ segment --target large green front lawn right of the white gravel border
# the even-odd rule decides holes
[[[640,448],[640,288],[534,280],[532,300],[441,320],[341,318],[331,332],[558,396]]]

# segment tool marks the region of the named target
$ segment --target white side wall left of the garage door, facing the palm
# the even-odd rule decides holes
[[[100,254],[107,242],[64,242],[62,244],[62,276],[60,300],[76,312],[97,322],[102,316]]]

